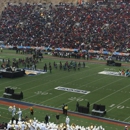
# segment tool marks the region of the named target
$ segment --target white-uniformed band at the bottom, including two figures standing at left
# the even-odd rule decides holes
[[[55,124],[54,122],[45,123],[39,122],[35,117],[34,119],[22,120],[22,111],[19,108],[16,112],[15,105],[8,108],[12,112],[12,118],[18,115],[18,121],[10,120],[7,124],[6,130],[105,130],[102,126],[79,126],[75,124],[70,125],[70,118],[66,116],[65,123]]]

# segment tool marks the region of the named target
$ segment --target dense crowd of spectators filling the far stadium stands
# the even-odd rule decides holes
[[[8,3],[0,19],[0,40],[7,45],[128,52],[129,7],[128,2]]]

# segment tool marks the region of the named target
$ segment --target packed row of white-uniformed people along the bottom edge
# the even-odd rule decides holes
[[[10,128],[14,128],[15,130],[105,130],[102,126],[79,126],[72,124],[70,125],[70,118],[67,116],[65,119],[65,123],[61,124],[55,124],[55,123],[44,123],[39,122],[36,118],[34,120],[29,120],[28,122],[24,121],[18,121],[16,124],[16,121],[13,121],[13,124],[11,124],[11,121],[7,125],[7,130]]]

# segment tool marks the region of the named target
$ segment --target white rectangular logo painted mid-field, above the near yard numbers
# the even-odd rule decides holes
[[[66,87],[61,87],[61,86],[58,86],[55,89],[56,90],[67,91],[67,92],[73,92],[73,93],[80,93],[80,94],[89,94],[90,93],[90,91],[86,91],[86,90],[66,88]]]

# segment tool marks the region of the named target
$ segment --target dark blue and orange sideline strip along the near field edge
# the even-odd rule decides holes
[[[19,108],[22,108],[22,109],[28,109],[29,107],[33,106],[34,108],[37,108],[37,109],[42,109],[42,110],[47,110],[47,111],[51,111],[51,112],[62,113],[61,109],[48,107],[48,106],[43,106],[43,105],[39,105],[39,104],[23,102],[23,101],[18,101],[18,100],[13,100],[13,99],[2,98],[2,97],[0,97],[0,104],[6,105],[6,106],[13,106],[13,105],[15,105],[16,107],[19,107]],[[68,111],[68,115],[81,117],[81,118],[86,118],[86,119],[95,120],[95,121],[106,122],[108,124],[114,124],[114,125],[118,125],[118,126],[127,125],[130,128],[130,124],[127,123],[127,122],[111,120],[111,119],[107,119],[107,118],[104,118],[104,117],[93,116],[93,115],[90,115],[90,114],[83,114],[83,113]]]

